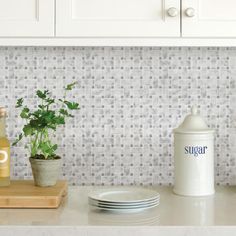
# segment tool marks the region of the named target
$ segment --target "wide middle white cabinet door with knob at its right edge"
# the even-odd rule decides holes
[[[179,10],[180,0],[56,0],[56,35],[179,37]]]

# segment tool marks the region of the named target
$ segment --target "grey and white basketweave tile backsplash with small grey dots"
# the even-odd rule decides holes
[[[62,178],[72,185],[173,184],[172,129],[197,104],[216,129],[217,184],[236,184],[236,49],[2,47],[0,101],[11,141],[22,127],[16,99],[78,81],[81,110],[58,130]],[[13,178],[32,177],[24,143]]]

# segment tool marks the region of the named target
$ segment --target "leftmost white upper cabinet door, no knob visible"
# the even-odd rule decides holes
[[[0,0],[0,37],[54,36],[54,0]]]

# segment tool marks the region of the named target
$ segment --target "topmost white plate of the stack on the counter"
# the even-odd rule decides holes
[[[89,198],[96,201],[121,204],[147,202],[159,199],[159,197],[160,195],[156,191],[134,187],[113,187],[97,190],[89,194]]]

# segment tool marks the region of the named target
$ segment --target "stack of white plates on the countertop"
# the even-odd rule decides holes
[[[160,194],[145,188],[108,188],[89,194],[89,204],[99,210],[133,212],[159,205]]]

